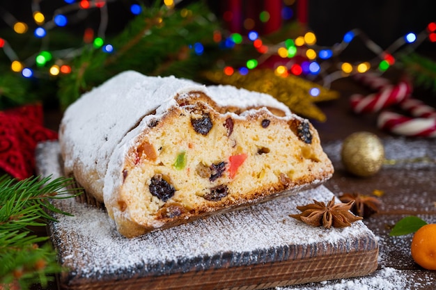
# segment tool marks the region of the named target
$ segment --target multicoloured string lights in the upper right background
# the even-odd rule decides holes
[[[358,63],[338,61],[343,51],[357,38],[363,40],[366,48],[372,51],[375,57]],[[316,45],[316,35],[312,31],[308,31],[295,39],[287,39],[273,45],[263,42],[256,31],[250,31],[247,37],[243,37],[240,33],[232,33],[224,40],[224,45],[227,48],[233,48],[235,45],[252,45],[260,56],[248,59],[245,66],[224,66],[222,70],[227,75],[233,73],[247,74],[249,70],[258,67],[267,59],[279,56],[281,60],[276,61],[273,67],[277,75],[283,77],[288,76],[288,74],[304,75],[308,79],[320,77],[323,86],[329,87],[332,81],[350,76],[350,74],[364,73],[369,70],[381,74],[396,63],[395,55],[401,48],[407,47],[407,51],[410,53],[426,40],[436,42],[435,22],[430,22],[423,31],[417,34],[410,32],[403,35],[387,49],[382,49],[359,29],[353,29],[345,33],[342,41],[333,47],[319,47]]]

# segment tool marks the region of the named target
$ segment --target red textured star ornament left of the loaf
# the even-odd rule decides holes
[[[57,138],[55,131],[43,126],[40,104],[0,111],[0,168],[16,179],[31,177],[36,145]]]

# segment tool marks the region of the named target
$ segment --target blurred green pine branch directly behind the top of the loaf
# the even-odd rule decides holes
[[[173,74],[169,70],[173,63],[186,64],[191,60],[194,53],[189,51],[190,45],[201,42],[218,46],[213,41],[213,32],[220,29],[219,23],[205,3],[190,4],[183,10],[185,14],[182,10],[156,3],[160,2],[143,7],[141,15],[132,19],[115,38],[107,40],[114,46],[114,53],[107,54],[91,46],[73,61],[72,73],[59,81],[58,97],[62,108],[119,72],[136,70],[147,75]],[[198,70],[190,72],[189,79],[198,74]]]

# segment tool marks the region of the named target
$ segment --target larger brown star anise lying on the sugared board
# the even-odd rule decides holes
[[[297,209],[302,211],[301,214],[290,214],[291,218],[296,218],[304,223],[319,227],[324,226],[326,229],[330,227],[349,227],[351,223],[361,220],[361,216],[355,216],[350,212],[354,200],[348,203],[334,204],[335,196],[327,203],[313,200],[313,204],[299,206]]]

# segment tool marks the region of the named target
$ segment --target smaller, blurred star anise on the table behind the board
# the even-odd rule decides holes
[[[352,205],[351,211],[357,216],[368,218],[377,213],[378,207],[380,207],[380,200],[374,196],[361,195],[360,193],[344,193],[339,197],[341,202],[355,201]]]

